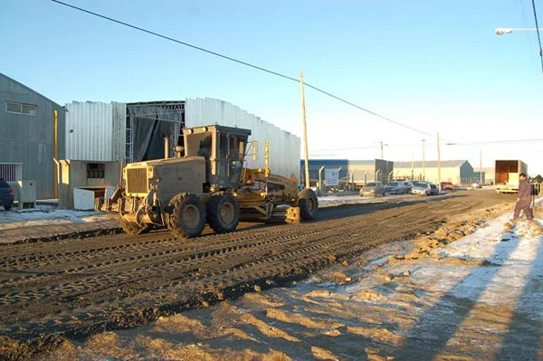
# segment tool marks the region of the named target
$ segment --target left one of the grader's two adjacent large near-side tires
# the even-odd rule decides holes
[[[174,205],[170,231],[176,238],[199,236],[205,226],[205,206],[197,195],[185,195]]]

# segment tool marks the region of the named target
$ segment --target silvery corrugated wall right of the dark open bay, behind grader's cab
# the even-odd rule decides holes
[[[212,124],[251,129],[250,141],[258,141],[258,160],[249,154],[247,166],[264,167],[264,142],[270,142],[271,173],[281,176],[300,175],[300,137],[277,128],[243,109],[223,100],[187,99],[185,106],[186,127]]]

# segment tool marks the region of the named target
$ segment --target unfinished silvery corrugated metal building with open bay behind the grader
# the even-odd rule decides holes
[[[258,159],[252,159],[251,150],[251,155],[247,157],[248,167],[264,167],[264,142],[268,140],[271,172],[281,176],[300,174],[300,137],[222,100],[206,98],[139,103],[73,101],[66,104],[66,108],[69,110],[66,115],[67,159],[115,161],[124,158],[128,162],[147,159],[149,153],[146,149],[151,146],[142,132],[155,138],[160,145],[164,141],[162,131],[157,132],[157,127],[142,127],[147,122],[155,125],[164,123],[164,127],[161,127],[166,129],[172,146],[177,143],[176,134],[183,127],[220,124],[251,129],[249,141],[257,140]],[[145,147],[144,151],[141,151],[142,147]],[[163,157],[163,148],[155,149],[152,153],[156,157]],[[170,153],[170,157],[174,155]]]

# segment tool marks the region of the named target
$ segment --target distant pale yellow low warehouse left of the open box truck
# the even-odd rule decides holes
[[[453,185],[472,184],[473,167],[467,160],[443,160],[441,162],[441,180],[438,181],[437,161],[394,162],[396,179],[426,180],[435,184],[451,182]]]

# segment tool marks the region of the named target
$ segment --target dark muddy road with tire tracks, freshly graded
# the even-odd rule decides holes
[[[510,202],[491,191],[432,202],[350,204],[312,223],[251,225],[176,240],[166,232],[0,246],[0,353],[28,358],[62,342],[263,290],[433,232],[448,216]]]

